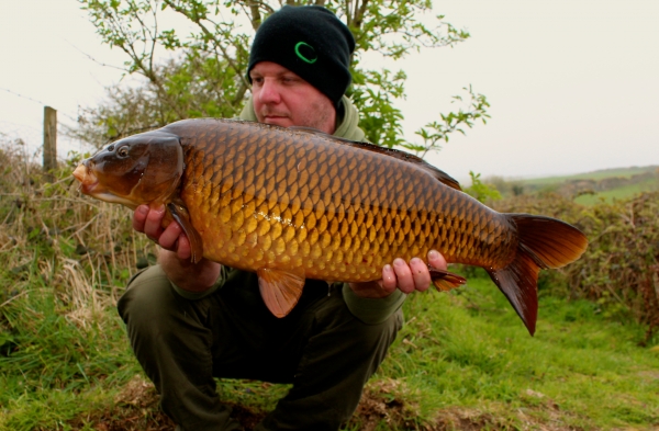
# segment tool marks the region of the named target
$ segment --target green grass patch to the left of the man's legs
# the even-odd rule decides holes
[[[0,430],[67,429],[138,373],[114,310],[82,321],[59,305],[37,284],[2,308],[12,330],[2,332]]]

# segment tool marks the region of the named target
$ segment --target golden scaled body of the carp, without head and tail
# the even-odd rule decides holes
[[[177,131],[181,197],[204,257],[230,266],[359,282],[395,258],[503,268],[514,228],[412,163],[323,135],[220,123]]]

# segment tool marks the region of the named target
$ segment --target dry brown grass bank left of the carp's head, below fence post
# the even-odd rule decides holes
[[[71,167],[46,182],[41,167],[26,161],[20,147],[0,146],[0,259],[12,274],[41,276],[68,306],[69,317],[86,325],[90,316],[113,304],[138,261],[156,247],[131,228],[130,212],[82,196]],[[18,279],[18,280],[16,280]],[[30,288],[16,277],[0,304]]]

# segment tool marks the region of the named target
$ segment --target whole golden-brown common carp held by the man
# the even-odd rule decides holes
[[[256,272],[278,317],[305,279],[379,280],[395,258],[437,249],[484,268],[533,334],[539,270],[588,246],[561,220],[489,208],[421,158],[302,127],[183,120],[115,141],[74,175],[101,201],[166,205],[164,223],[181,225],[192,260]],[[465,282],[431,271],[439,290]]]

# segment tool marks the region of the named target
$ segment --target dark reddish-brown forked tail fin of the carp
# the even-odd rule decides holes
[[[517,227],[517,256],[507,266],[488,272],[533,336],[538,315],[538,272],[576,261],[585,251],[588,239],[574,226],[556,218],[528,214],[506,217]]]

